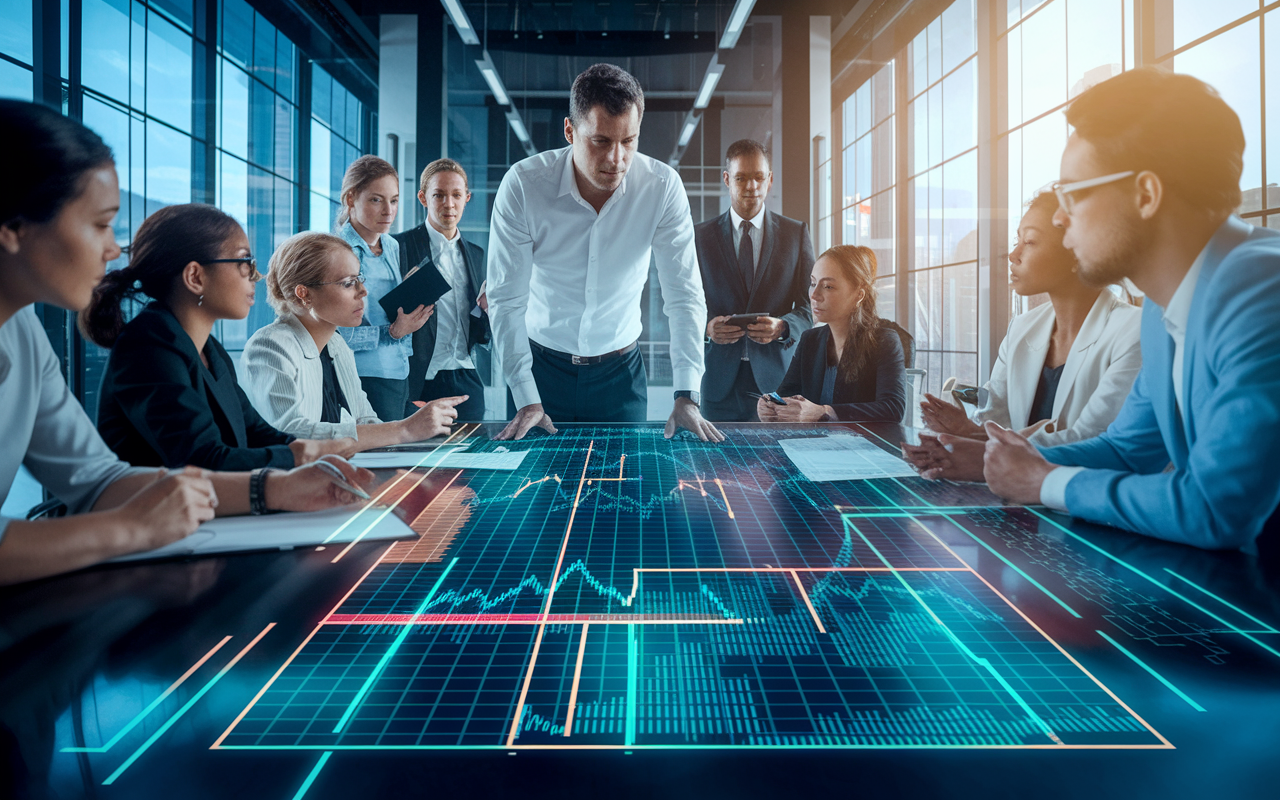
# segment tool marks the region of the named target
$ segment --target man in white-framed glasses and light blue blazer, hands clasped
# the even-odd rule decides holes
[[[1053,224],[1080,278],[1146,296],[1142,371],[1100,436],[1037,449],[987,424],[1018,503],[1202,548],[1280,552],[1280,233],[1234,216],[1239,118],[1189,76],[1138,69],[1066,111]],[[956,463],[936,452],[947,477]],[[919,462],[916,462],[919,465]]]

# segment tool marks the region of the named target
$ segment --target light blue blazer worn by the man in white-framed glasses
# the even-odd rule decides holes
[[[1164,308],[1147,302],[1142,371],[1115,422],[1041,451],[1084,467],[1068,509],[1157,539],[1280,553],[1280,233],[1222,223],[1187,320],[1181,413],[1172,364]]]

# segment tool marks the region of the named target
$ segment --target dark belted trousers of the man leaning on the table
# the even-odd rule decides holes
[[[552,422],[644,422],[649,417],[649,380],[640,348],[600,364],[575,365],[532,346],[534,383]],[[507,393],[507,415],[516,402]]]

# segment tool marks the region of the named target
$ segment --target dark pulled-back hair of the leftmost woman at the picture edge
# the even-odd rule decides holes
[[[0,225],[47,223],[84,188],[84,175],[113,164],[111,148],[54,109],[0,100],[0,152],[5,163]]]

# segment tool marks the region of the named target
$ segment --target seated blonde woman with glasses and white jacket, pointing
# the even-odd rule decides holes
[[[275,321],[250,337],[241,366],[253,404],[273,425],[307,439],[351,440],[352,452],[449,433],[466,396],[389,422],[370,406],[351,348],[334,335],[360,324],[369,294],[351,244],[328,233],[289,237],[271,255],[266,293]]]

